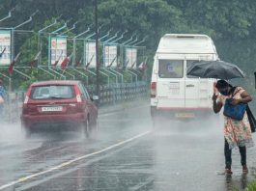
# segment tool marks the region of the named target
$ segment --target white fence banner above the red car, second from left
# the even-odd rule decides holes
[[[50,61],[52,66],[60,66],[67,57],[67,38],[54,37],[50,39]]]

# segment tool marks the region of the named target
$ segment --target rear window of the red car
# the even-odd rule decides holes
[[[32,99],[72,98],[73,96],[72,86],[67,85],[37,86],[31,91]]]

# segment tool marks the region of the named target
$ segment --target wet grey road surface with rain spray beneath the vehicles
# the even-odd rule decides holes
[[[242,175],[224,168],[221,122],[161,122],[152,128],[147,104],[101,114],[97,136],[40,132],[25,140],[17,124],[1,124],[0,190],[226,191],[256,179],[255,148]],[[255,135],[254,140],[256,140]]]

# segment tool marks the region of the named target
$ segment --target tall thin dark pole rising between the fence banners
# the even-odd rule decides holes
[[[100,62],[99,62],[99,31],[98,31],[98,1],[95,0],[95,33],[96,33],[96,93],[100,98]],[[99,104],[100,100],[98,101]]]

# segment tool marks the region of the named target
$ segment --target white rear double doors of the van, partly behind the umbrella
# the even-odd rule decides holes
[[[185,64],[195,60],[159,59],[157,65],[157,108],[211,108],[213,80],[185,75]]]

